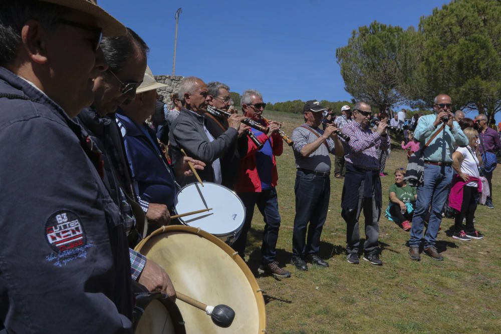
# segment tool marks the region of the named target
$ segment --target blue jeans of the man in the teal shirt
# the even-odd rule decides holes
[[[424,182],[417,187],[417,201],[412,229],[410,230],[410,247],[419,247],[423,235],[424,219],[431,204],[428,228],[424,234],[424,247],[434,246],[438,227],[442,221],[442,208],[449,195],[452,181],[451,166],[435,166],[424,164]]]

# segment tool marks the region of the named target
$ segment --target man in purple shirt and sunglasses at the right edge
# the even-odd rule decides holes
[[[480,139],[480,145],[478,148],[482,156],[483,176],[487,179],[490,190],[490,193],[485,201],[485,206],[489,209],[493,209],[492,173],[496,168],[496,152],[501,148],[501,142],[499,142],[499,136],[497,135],[496,130],[488,127],[487,117],[485,114],[475,117],[475,127],[478,129],[478,138]]]

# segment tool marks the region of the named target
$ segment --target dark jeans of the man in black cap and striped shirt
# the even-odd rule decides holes
[[[305,255],[317,254],[320,248],[320,235],[324,227],[331,180],[329,176],[315,176],[298,170],[296,172],[296,217],[292,236],[292,252],[302,258]],[[307,230],[308,222],[310,227]],[[306,240],[306,242],[305,242]]]

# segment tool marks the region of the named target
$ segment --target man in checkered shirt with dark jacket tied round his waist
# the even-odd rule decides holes
[[[370,130],[372,109],[368,103],[357,102],[353,107],[353,122],[341,130],[350,137],[345,143],[346,176],[341,196],[341,216],[346,221],[346,251],[348,262],[359,263],[359,218],[365,217],[364,260],[382,265],[379,259],[378,237],[382,195],[379,178],[379,153],[390,146],[386,123]]]

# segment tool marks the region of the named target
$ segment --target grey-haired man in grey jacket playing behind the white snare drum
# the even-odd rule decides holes
[[[187,155],[203,161],[206,166],[200,178],[203,181],[221,184],[222,172],[220,158],[230,149],[238,138],[238,129],[242,116],[231,115],[228,118],[228,129],[219,137],[208,131],[206,106],[212,97],[208,94],[207,85],[199,78],[186,77],[179,85],[179,97],[184,100],[184,108],[172,123],[170,132],[170,153],[174,168],[183,163],[181,149]],[[185,177],[182,184],[194,182],[193,177]]]

